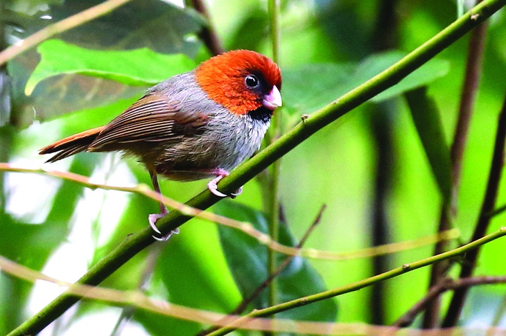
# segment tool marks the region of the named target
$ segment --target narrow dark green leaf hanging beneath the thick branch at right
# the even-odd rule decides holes
[[[405,98],[439,191],[448,201],[451,196],[450,150],[446,145],[439,110],[435,101],[427,95],[426,87],[406,92]]]

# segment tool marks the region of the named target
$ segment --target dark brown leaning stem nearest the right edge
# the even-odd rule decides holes
[[[504,164],[504,150],[506,143],[506,95],[503,103],[503,108],[499,114],[499,120],[497,125],[496,141],[494,144],[494,154],[492,154],[492,164],[490,167],[489,180],[487,182],[487,191],[485,192],[485,199],[482,203],[482,209],[480,211],[480,217],[476,223],[474,229],[473,238],[476,240],[485,236],[490,223],[489,213],[494,210],[496,205],[496,199],[499,189],[499,182],[501,174],[503,172]],[[460,278],[469,278],[473,274],[476,268],[476,260],[478,260],[478,253],[480,249],[470,251],[466,254],[465,263],[462,264],[460,270]],[[446,312],[442,326],[444,328],[450,328],[457,324],[457,321],[464,307],[464,301],[466,299],[468,288],[460,288],[453,292],[450,306]]]

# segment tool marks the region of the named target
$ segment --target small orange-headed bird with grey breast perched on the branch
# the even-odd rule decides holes
[[[151,87],[107,125],[57,141],[39,154],[56,153],[46,161],[54,162],[83,151],[121,151],[146,166],[157,193],[157,175],[177,181],[214,177],[209,191],[226,197],[216,184],[259,149],[274,109],[281,106],[280,91],[281,71],[272,60],[254,51],[229,51]],[[155,224],[166,213],[160,204],[160,213],[148,217],[159,234]]]

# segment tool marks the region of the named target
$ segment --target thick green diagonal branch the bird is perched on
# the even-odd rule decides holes
[[[405,76],[421,67],[422,64],[428,62],[428,60],[444,50],[444,48],[451,45],[478,24],[481,24],[505,5],[506,0],[483,1],[435,35],[435,37],[429,39],[399,62],[396,62],[392,67],[374,76],[374,78],[356,87],[356,89],[349,91],[308,118],[305,118],[302,123],[293,127],[292,130],[281,136],[281,138],[262,150],[255,157],[238,166],[228,177],[225,177],[220,182],[220,191],[223,193],[236,191],[274,161],[295,148],[302,141],[308,139],[309,136],[351,111],[351,109],[365,103],[370,98],[381,93],[381,91],[398,83]],[[193,197],[186,204],[197,209],[207,209],[219,200],[219,197],[206,190]],[[191,216],[184,215],[180,211],[175,210],[168,213],[164,218],[160,218],[157,222],[157,227],[162,234],[166,234],[180,227],[190,219]],[[78,283],[98,285],[98,283],[101,283],[107,276],[112,274],[116,269],[119,269],[130,258],[151,245],[154,242],[151,235],[151,228],[146,227],[146,229],[143,229],[139,233],[128,237],[125,242],[91,267],[89,272],[78,280]],[[40,332],[40,330],[50,324],[51,321],[57,319],[77,301],[79,301],[79,297],[64,292],[60,297],[40,310],[40,312],[13,330],[10,336],[29,335]]]

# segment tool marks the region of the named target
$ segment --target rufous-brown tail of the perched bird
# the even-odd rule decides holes
[[[65,139],[56,141],[55,143],[51,143],[51,145],[42,148],[39,151],[39,154],[58,152],[46,162],[55,162],[66,157],[70,157],[73,154],[87,150],[88,146],[96,139],[103,128],[104,126],[96,127],[92,130],[68,136]]]

